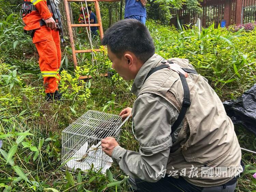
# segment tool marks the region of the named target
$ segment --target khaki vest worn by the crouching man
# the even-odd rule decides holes
[[[162,64],[162,60],[158,57],[153,68]],[[168,61],[182,68],[194,69],[187,59]],[[243,170],[233,123],[207,79],[189,73],[186,80],[191,105],[171,147],[166,175],[183,176],[188,182],[201,187],[225,184]],[[139,95],[146,92],[165,98],[180,111],[184,91],[177,72],[165,68],[153,73],[146,79]]]

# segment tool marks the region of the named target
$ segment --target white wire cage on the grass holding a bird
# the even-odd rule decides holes
[[[64,169],[82,171],[96,169],[106,172],[112,159],[101,149],[101,140],[105,137],[120,138],[122,117],[94,110],[87,111],[62,131],[62,163],[67,161]]]

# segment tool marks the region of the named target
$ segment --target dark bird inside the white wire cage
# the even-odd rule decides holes
[[[83,162],[86,157],[88,156],[90,151],[94,151],[94,154],[97,152],[97,150],[99,149],[98,147],[93,148],[93,145],[97,145],[99,142],[101,142],[102,139],[106,138],[106,137],[111,137],[114,136],[113,134],[115,134],[115,127],[118,127],[120,125],[120,122],[118,123],[118,121],[120,121],[119,119],[109,119],[107,120],[107,122],[101,122],[98,127],[95,127],[93,130],[93,134],[90,135],[90,137],[93,138],[88,138],[87,142],[88,142],[88,147],[85,151],[85,154],[82,156],[82,158],[80,160],[76,160],[78,162]],[[91,150],[89,150],[90,148],[92,148]]]

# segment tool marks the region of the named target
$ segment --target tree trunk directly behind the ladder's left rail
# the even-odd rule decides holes
[[[66,10],[65,10],[65,5],[64,5],[64,1],[63,0],[60,1],[59,10],[60,10],[60,14],[62,16],[63,35],[68,37],[68,39],[69,39],[69,28],[68,28],[67,15],[66,15]],[[72,14],[72,11],[71,11],[70,4],[69,4],[69,14],[70,14],[71,23],[74,23],[73,14]],[[75,31],[75,28],[73,28],[72,31],[73,31],[74,41],[76,41],[76,31]]]

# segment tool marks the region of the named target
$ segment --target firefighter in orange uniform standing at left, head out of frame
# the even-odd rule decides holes
[[[61,98],[61,94],[58,92],[61,62],[60,37],[56,20],[53,19],[52,10],[50,12],[49,8],[46,0],[25,0],[21,16],[26,25],[24,30],[30,33],[38,50],[39,67],[47,94],[46,99],[59,100]]]

